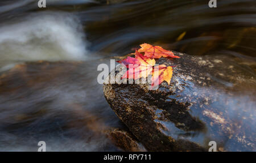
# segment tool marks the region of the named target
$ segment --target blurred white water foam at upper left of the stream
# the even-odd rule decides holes
[[[0,27],[0,67],[24,61],[86,59],[79,19],[65,12],[39,12]],[[6,66],[6,64],[5,64]],[[7,65],[8,66],[8,65]]]

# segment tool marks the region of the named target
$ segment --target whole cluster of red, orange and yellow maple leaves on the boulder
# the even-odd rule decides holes
[[[129,68],[126,73],[122,76],[122,79],[139,79],[147,78],[148,75],[151,77],[151,86],[155,87],[156,85],[161,84],[163,81],[167,81],[170,84],[172,78],[172,67],[166,65],[156,65],[155,59],[161,57],[171,57],[171,58],[180,58],[169,50],[163,49],[161,46],[153,46],[150,44],[141,44],[141,49],[136,50],[135,58],[127,57],[121,61],[127,68]]]

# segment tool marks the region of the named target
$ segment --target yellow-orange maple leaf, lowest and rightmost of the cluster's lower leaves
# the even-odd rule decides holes
[[[166,81],[170,85],[172,78],[172,66],[158,65],[154,67],[151,77],[151,88]]]

